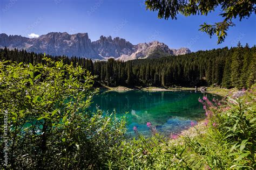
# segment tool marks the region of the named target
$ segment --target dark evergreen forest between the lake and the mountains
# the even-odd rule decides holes
[[[256,47],[246,45],[231,49],[219,48],[210,51],[198,51],[180,56],[163,56],[156,59],[119,61],[95,61],[73,56],[51,56],[53,60],[62,59],[64,63],[78,64],[97,75],[96,86],[211,86],[225,88],[248,88],[256,77]],[[160,52],[154,56],[164,55]],[[151,56],[152,56],[151,55]],[[0,59],[17,62],[44,62],[43,54],[0,49]]]

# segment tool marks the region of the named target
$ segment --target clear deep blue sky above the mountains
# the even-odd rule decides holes
[[[121,37],[132,44],[158,40],[169,48],[188,47],[191,51],[236,46],[240,40],[256,44],[256,17],[239,21],[228,30],[220,45],[198,31],[204,22],[221,21],[219,9],[208,16],[184,17],[177,20],[157,18],[157,12],[146,10],[143,0],[1,0],[0,33],[29,37],[31,33],[48,32],[89,34],[92,41],[101,35]]]

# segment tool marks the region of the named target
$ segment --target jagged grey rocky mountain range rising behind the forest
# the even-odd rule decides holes
[[[191,53],[188,48],[170,49],[159,41],[133,45],[123,38],[112,39],[111,36],[100,36],[99,40],[91,41],[88,33],[68,34],[66,32],[50,32],[38,38],[8,36],[1,33],[0,48],[4,47],[50,55],[79,56],[94,60],[114,58],[123,61]]]

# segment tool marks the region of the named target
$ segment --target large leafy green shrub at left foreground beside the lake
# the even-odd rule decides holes
[[[80,66],[0,62],[1,166],[98,168],[123,140],[125,122],[90,113],[96,90]],[[6,150],[6,148],[8,150]],[[6,159],[6,156],[8,158]]]

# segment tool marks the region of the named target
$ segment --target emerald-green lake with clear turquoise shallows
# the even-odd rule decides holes
[[[211,94],[207,96],[213,98]],[[115,109],[117,116],[129,112],[127,134],[133,135],[133,126],[136,126],[140,133],[149,136],[146,123],[151,122],[157,131],[170,135],[189,128],[191,121],[196,123],[205,118],[199,97],[203,97],[199,91],[105,91],[93,98],[91,110],[95,111],[98,106],[105,113],[111,113]]]

